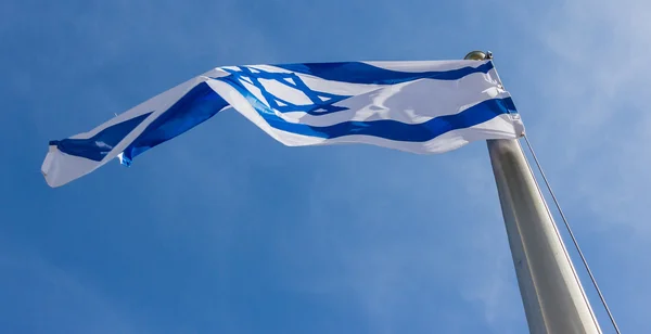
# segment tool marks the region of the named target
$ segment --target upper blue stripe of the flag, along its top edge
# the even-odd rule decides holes
[[[493,62],[487,62],[477,67],[467,66],[450,70],[412,73],[385,69],[361,62],[280,64],[273,66],[327,80],[367,85],[395,85],[424,78],[458,80],[473,73],[488,73],[494,67]]]

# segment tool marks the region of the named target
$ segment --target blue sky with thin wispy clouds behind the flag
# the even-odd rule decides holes
[[[49,140],[216,66],[481,49],[621,329],[641,333],[649,13],[643,0],[2,1],[0,329],[526,332],[484,143],[431,156],[292,149],[232,112],[130,168],[60,189],[39,171]]]

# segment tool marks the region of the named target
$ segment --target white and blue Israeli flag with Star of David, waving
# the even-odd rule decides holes
[[[366,143],[426,154],[524,133],[489,60],[225,66],[51,141],[42,174],[60,187],[115,157],[130,165],[230,108],[290,146]]]

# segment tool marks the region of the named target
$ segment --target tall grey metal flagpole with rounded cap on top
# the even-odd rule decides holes
[[[465,59],[490,53],[473,51]],[[487,145],[529,332],[601,333],[520,142]]]

